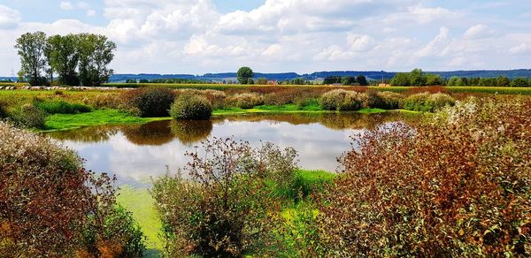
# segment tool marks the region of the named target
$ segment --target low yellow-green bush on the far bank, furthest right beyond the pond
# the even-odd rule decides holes
[[[421,112],[433,112],[439,110],[446,105],[453,105],[455,99],[450,95],[437,93],[430,95],[429,93],[421,93],[408,96],[402,102],[404,110],[415,110]]]

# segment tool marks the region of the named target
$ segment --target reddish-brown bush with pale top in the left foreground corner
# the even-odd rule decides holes
[[[139,231],[129,230],[132,220],[120,218],[106,227],[117,220],[113,180],[83,170],[73,151],[0,122],[0,156],[0,254],[102,256],[100,247],[111,242],[142,249]],[[95,223],[90,217],[97,218]],[[87,244],[87,230],[96,232],[94,245]],[[118,253],[131,257],[127,248]]]

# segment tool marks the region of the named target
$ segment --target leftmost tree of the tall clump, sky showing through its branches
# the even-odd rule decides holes
[[[20,56],[20,71],[28,78],[31,85],[46,83],[41,73],[46,65],[45,48],[46,34],[43,32],[22,34],[15,44],[15,49],[18,49]]]

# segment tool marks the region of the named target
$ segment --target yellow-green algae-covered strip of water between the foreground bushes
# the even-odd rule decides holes
[[[120,186],[117,201],[133,214],[135,221],[142,227],[147,248],[162,250],[164,242],[158,237],[162,223],[148,189]]]

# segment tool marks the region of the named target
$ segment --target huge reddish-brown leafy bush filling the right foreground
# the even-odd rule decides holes
[[[341,158],[319,209],[337,256],[526,256],[531,102],[468,100],[425,124],[379,128]]]

